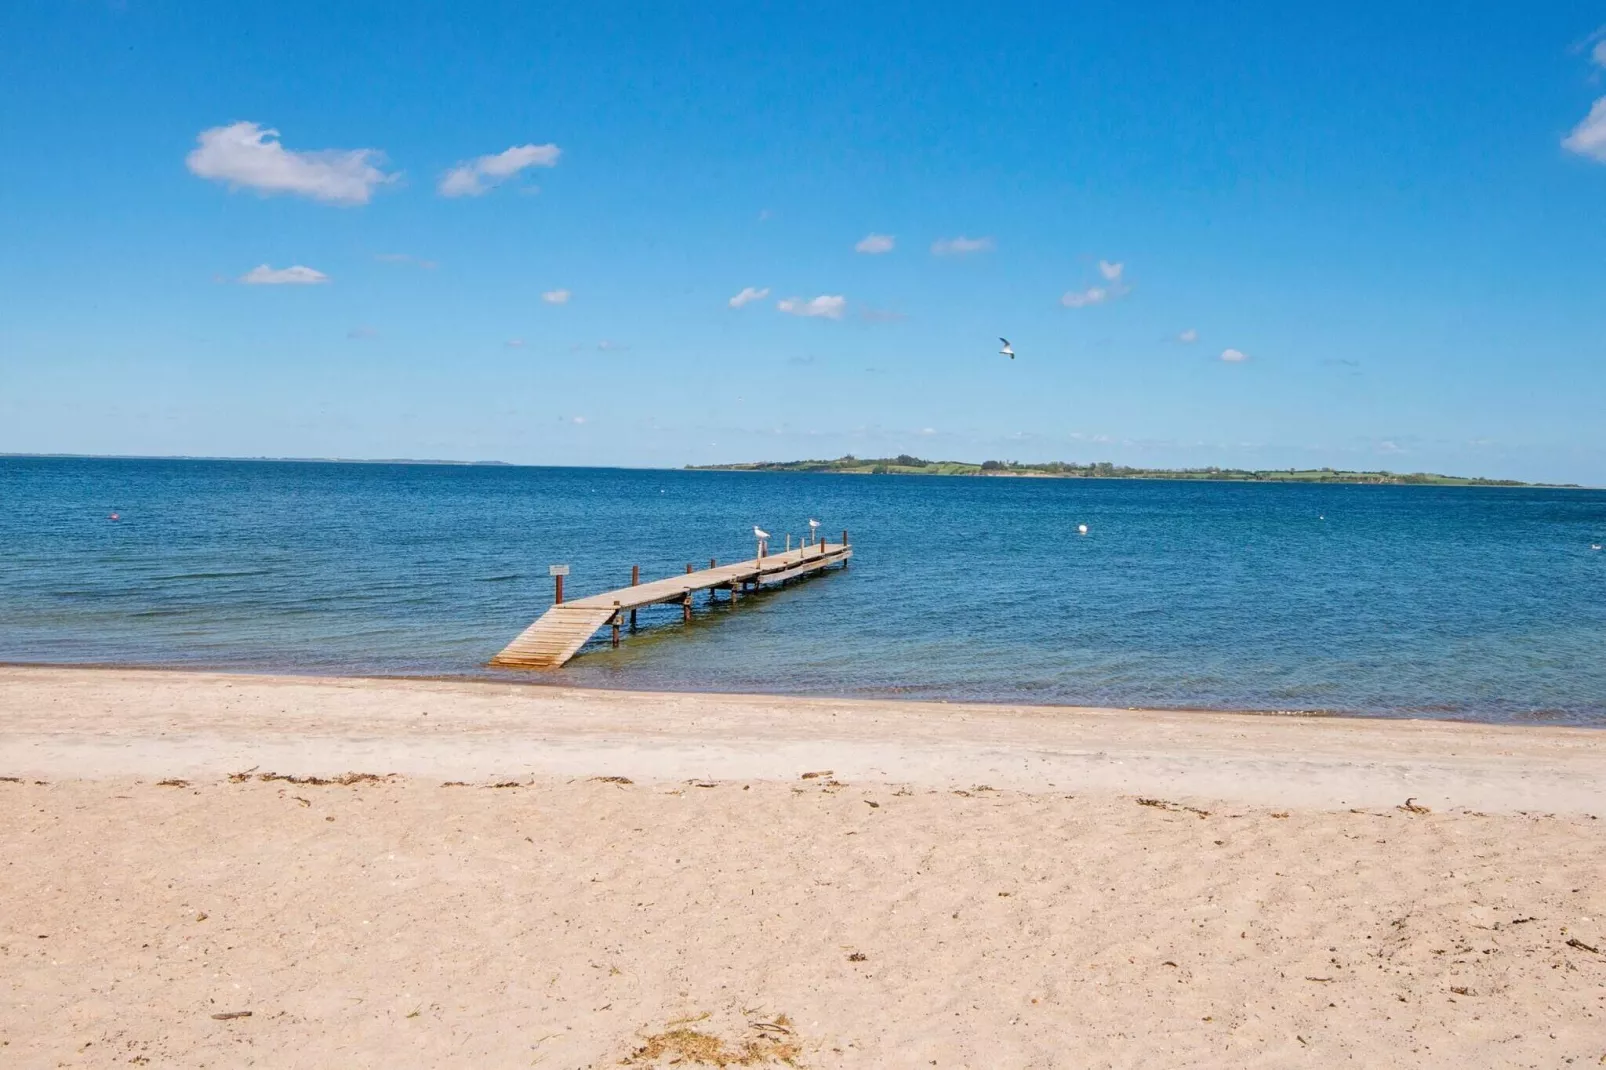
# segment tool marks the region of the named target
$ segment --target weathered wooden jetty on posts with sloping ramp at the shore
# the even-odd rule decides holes
[[[853,556],[848,533],[840,543],[817,541],[779,554],[761,554],[752,561],[721,566],[713,561],[707,569],[692,570],[665,580],[638,583],[639,570],[631,569],[631,585],[617,591],[564,601],[564,580],[557,577],[557,598],[551,609],[519,633],[501,654],[491,659],[498,668],[557,668],[580,652],[580,647],[604,625],[613,627],[613,646],[618,646],[620,628],[634,627],[636,611],[642,606],[679,602],[681,619],[692,619],[692,594],[697,591],[729,591],[732,599],[742,591],[758,586],[785,583],[798,577],[821,572],[835,564],[846,564]]]

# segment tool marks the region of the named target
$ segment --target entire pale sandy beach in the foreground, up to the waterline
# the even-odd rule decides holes
[[[0,668],[0,1067],[1606,1060],[1601,733]]]

